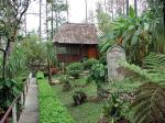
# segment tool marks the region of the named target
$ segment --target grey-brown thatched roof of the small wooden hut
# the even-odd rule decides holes
[[[95,24],[66,23],[54,35],[54,43],[63,44],[98,44]]]

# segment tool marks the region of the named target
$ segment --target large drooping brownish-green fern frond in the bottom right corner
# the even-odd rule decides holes
[[[165,123],[165,88],[153,82],[142,85],[132,109],[134,123]]]

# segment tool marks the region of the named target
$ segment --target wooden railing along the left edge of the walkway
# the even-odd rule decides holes
[[[29,86],[30,86],[30,81],[32,79],[32,74],[29,75],[29,77],[26,78],[26,81],[24,83],[24,89],[23,92],[20,93],[12,102],[12,104],[9,107],[9,109],[7,110],[6,114],[3,115],[3,118],[1,119],[0,123],[18,123],[20,114],[23,110],[24,107],[24,102],[25,102],[25,96],[28,93],[29,90]],[[10,120],[12,121],[10,121]]]

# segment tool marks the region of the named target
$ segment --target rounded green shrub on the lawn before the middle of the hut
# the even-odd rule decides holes
[[[73,63],[66,67],[67,74],[78,78],[79,74],[82,71],[84,67],[81,63]]]

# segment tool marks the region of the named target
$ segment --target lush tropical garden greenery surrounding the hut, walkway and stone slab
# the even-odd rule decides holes
[[[30,72],[36,78],[40,123],[165,123],[165,1],[105,0],[96,4],[99,58],[63,65],[53,35],[66,22],[69,4],[46,1],[51,27],[46,40],[20,32],[31,0],[0,1],[0,119],[23,91]],[[130,3],[133,3],[130,5]],[[50,15],[50,16],[48,16]],[[122,80],[108,79],[107,53],[125,51],[118,64]]]

